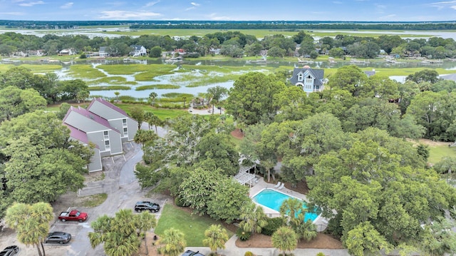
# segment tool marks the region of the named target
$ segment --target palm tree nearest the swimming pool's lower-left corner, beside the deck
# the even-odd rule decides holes
[[[239,218],[242,220],[239,226],[247,232],[259,233],[267,225],[267,217],[263,208],[253,202],[242,206]]]

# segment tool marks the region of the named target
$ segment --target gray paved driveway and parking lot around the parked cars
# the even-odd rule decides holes
[[[139,145],[136,145],[135,143],[130,143],[130,146],[125,148],[128,148],[129,150],[123,156],[103,159],[110,162],[110,165],[108,165],[108,168],[105,170],[105,179],[98,182],[100,184],[105,184],[105,189],[108,190],[108,198],[104,203],[95,208],[75,207],[75,205],[78,205],[78,193],[67,193],[56,200],[56,202],[52,203],[56,217],[51,224],[50,232],[68,232],[71,234],[72,238],[68,244],[64,245],[44,244],[46,255],[105,255],[101,245],[95,247],[95,249],[90,246],[90,241],[88,240],[88,232],[92,231],[90,222],[93,222],[102,215],[114,216],[120,209],[133,210],[135,203],[138,201],[152,201],[158,203],[161,207],[160,211],[152,214],[156,215],[157,218],[160,217],[163,205],[167,200],[170,200],[170,198],[167,195],[160,194],[155,194],[150,197],[145,196],[147,191],[140,188],[133,173],[135,164],[142,158],[142,151],[140,150]],[[90,185],[98,186],[100,185],[98,183]],[[106,186],[110,187],[106,188]],[[88,220],[86,220],[86,222],[61,222],[58,220],[57,216],[62,211],[68,209],[76,209],[88,213]],[[3,232],[0,232],[0,250],[3,250],[4,247],[9,245],[19,245],[19,255],[21,256],[37,255],[36,247],[26,247],[17,242],[16,233],[12,230],[5,229]]]

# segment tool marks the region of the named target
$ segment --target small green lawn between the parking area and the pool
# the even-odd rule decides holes
[[[157,235],[163,235],[165,230],[174,227],[184,233],[187,246],[200,247],[204,246],[202,245],[202,240],[205,238],[204,231],[212,224],[221,223],[207,216],[192,215],[167,203],[162,210],[157,227],[155,227],[155,233]],[[227,230],[227,233],[228,237],[234,235],[229,230]]]

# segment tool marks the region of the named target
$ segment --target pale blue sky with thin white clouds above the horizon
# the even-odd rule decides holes
[[[0,0],[26,21],[455,21],[456,0]]]

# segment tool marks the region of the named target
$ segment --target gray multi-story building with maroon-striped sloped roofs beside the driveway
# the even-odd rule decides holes
[[[63,118],[71,138],[84,145],[95,145],[89,172],[102,170],[101,158],[123,153],[123,143],[133,140],[138,122],[125,111],[102,98],[95,98],[87,109],[71,106]]]

